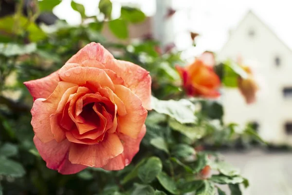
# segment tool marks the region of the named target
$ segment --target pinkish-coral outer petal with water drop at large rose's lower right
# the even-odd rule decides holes
[[[133,139],[124,134],[118,134],[124,146],[124,152],[119,156],[111,158],[110,161],[103,167],[105,170],[121,170],[132,161],[133,157],[138,153],[140,142],[146,134],[146,126],[143,125],[137,139]]]

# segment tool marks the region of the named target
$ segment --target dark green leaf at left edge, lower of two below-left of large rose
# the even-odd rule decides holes
[[[25,170],[20,163],[5,157],[0,158],[0,176],[21,177],[24,174]]]

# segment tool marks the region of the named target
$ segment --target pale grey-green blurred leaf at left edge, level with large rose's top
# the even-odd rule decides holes
[[[15,43],[0,43],[0,54],[6,57],[31,54],[37,50],[36,43],[18,45]]]

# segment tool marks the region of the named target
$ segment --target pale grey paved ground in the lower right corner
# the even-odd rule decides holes
[[[251,185],[243,195],[292,195],[292,152],[254,150],[221,154],[249,179]]]

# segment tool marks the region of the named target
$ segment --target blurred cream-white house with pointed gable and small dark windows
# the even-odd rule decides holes
[[[252,62],[248,65],[261,78],[257,101],[247,105],[236,89],[224,89],[224,120],[257,124],[257,131],[265,140],[292,145],[292,50],[274,34],[252,11],[218,53],[226,58]]]

